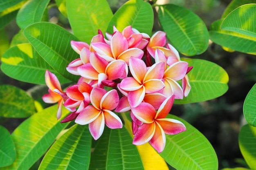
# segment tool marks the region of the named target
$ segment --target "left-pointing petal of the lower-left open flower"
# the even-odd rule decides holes
[[[90,124],[101,114],[101,110],[94,108],[92,105],[86,106],[76,117],[75,123],[80,125]]]

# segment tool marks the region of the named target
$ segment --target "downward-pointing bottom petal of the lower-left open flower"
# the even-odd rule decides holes
[[[89,131],[92,134],[94,140],[99,139],[101,137],[105,126],[104,115],[101,113],[97,119],[89,124]]]

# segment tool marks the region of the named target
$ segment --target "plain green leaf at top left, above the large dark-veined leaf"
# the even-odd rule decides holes
[[[50,0],[28,0],[19,10],[16,22],[20,29],[30,24],[40,22]]]

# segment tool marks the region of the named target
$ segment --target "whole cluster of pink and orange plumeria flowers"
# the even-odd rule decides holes
[[[101,137],[105,124],[112,129],[122,128],[117,113],[130,111],[133,144],[149,142],[162,152],[165,134],[186,130],[181,121],[166,116],[174,99],[189,94],[187,73],[192,67],[180,60],[171,44],[166,44],[163,31],[157,31],[151,38],[131,26],[122,32],[114,26],[113,32],[106,33],[105,38],[99,31],[90,44],[71,41],[80,57],[66,69],[80,76],[79,81],[63,92],[57,77],[46,71],[49,94],[43,100],[58,102],[58,119],[62,105],[71,111],[62,123],[74,120],[77,124],[89,124],[95,140]]]

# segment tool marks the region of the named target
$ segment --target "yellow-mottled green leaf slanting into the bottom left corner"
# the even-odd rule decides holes
[[[56,118],[57,105],[38,112],[18,126],[11,137],[17,150],[16,161],[4,170],[29,169],[52,145],[57,135],[67,124],[61,124]],[[69,113],[62,110],[62,117]]]

